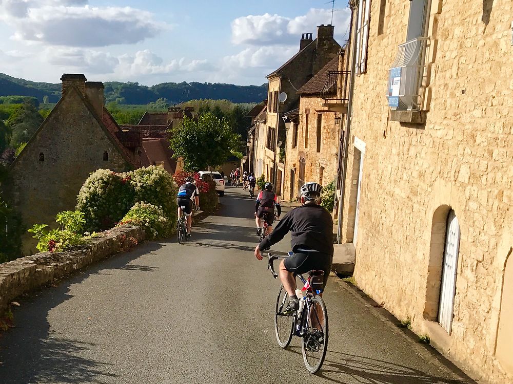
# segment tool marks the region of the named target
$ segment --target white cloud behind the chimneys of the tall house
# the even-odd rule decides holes
[[[347,8],[336,9],[333,13],[334,37],[340,40],[339,43],[348,32],[349,18],[350,10]],[[294,18],[269,13],[239,17],[231,24],[232,42],[256,46],[293,44],[301,33],[314,33],[317,26],[330,22],[331,9],[315,8]]]

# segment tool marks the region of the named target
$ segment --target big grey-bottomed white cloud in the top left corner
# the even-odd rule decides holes
[[[17,40],[70,47],[132,44],[169,27],[150,12],[91,7],[85,0],[0,0],[0,20]]]

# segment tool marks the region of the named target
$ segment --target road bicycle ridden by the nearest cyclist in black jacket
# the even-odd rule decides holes
[[[289,256],[293,252],[288,252]],[[274,279],[278,273],[274,271],[274,260],[278,256],[268,254],[267,269],[271,270]],[[282,257],[283,259],[283,257]],[[312,270],[308,272],[308,279],[302,274],[294,274],[303,283],[302,294],[298,295],[300,307],[293,314],[284,313],[289,303],[287,291],[283,284],[278,290],[274,308],[274,332],[278,345],[287,348],[292,336],[301,337],[301,352],[305,367],[310,373],[318,372],[326,357],[328,350],[328,312],[320,294],[323,291],[324,271]],[[296,289],[297,294],[300,293]]]

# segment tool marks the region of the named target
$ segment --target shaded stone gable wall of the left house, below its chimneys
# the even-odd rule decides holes
[[[53,223],[57,212],[74,209],[80,187],[98,168],[123,172],[129,165],[72,87],[16,158],[3,187],[27,227]],[[35,244],[27,235],[24,253]]]

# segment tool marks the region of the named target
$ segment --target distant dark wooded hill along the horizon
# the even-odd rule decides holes
[[[179,103],[194,99],[230,100],[234,103],[260,102],[267,98],[267,84],[262,86],[235,86],[233,84],[201,82],[166,82],[152,87],[141,86],[137,82],[107,81],[105,102],[117,101],[120,104],[148,104],[160,98],[169,103]],[[34,82],[17,79],[0,73],[0,96],[33,96],[43,101],[57,102],[61,97],[61,84]]]

